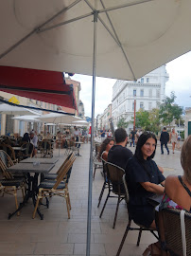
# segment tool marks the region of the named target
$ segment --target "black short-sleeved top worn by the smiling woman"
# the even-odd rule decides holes
[[[148,197],[154,195],[154,193],[146,191],[140,182],[160,184],[165,180],[165,176],[159,171],[153,160],[139,162],[133,156],[126,167],[126,179],[130,193],[130,205],[144,206],[148,205]]]

